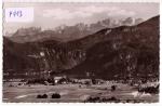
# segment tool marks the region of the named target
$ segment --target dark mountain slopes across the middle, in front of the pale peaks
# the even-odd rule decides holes
[[[135,26],[104,28],[68,42],[46,39],[17,43],[4,37],[3,68],[64,71],[76,77],[89,74],[105,79],[154,77],[159,75],[159,31],[156,16]]]

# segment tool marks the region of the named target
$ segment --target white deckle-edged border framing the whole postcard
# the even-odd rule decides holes
[[[3,0],[3,2],[160,2],[162,3],[161,0]],[[94,105],[94,106],[98,106],[98,105],[103,105],[103,106],[107,106],[107,105],[120,105],[120,106],[130,106],[130,105],[141,105],[141,106],[145,106],[145,105],[151,105],[151,106],[162,106],[162,92],[160,92],[160,103],[156,103],[156,104],[123,104],[123,103],[120,103],[120,104],[116,104],[116,103],[2,103],[2,0],[0,0],[0,34],[1,34],[1,37],[0,37],[0,106],[2,105],[23,105],[23,106],[28,106],[28,105],[37,105],[37,106],[44,106],[44,105],[51,105],[51,106],[54,106],[54,105],[59,105],[59,106],[67,106],[67,105],[71,105],[71,106],[81,106],[81,105],[85,105],[85,106],[90,106],[90,105]],[[160,14],[162,14],[162,4],[160,4]],[[161,22],[160,22],[160,25],[162,25],[162,17],[160,16],[161,18]],[[162,26],[160,26],[160,29],[162,29]],[[160,54],[162,54],[162,30],[160,30]],[[162,57],[162,55],[160,55],[160,58]],[[160,63],[162,63],[162,59],[160,59]],[[162,64],[160,64],[160,70],[162,70]],[[160,83],[162,83],[162,74],[160,72]],[[162,91],[162,85],[160,85],[160,91]]]

